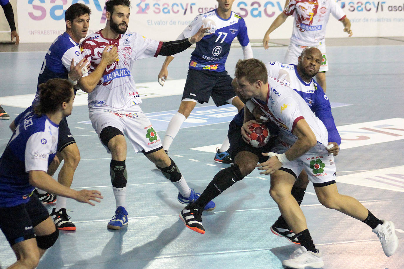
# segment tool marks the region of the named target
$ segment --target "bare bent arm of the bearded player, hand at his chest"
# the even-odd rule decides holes
[[[97,86],[98,81],[101,79],[107,66],[112,65],[113,63],[115,63],[116,60],[118,60],[118,49],[115,46],[112,46],[112,48],[108,50],[111,46],[106,46],[104,48],[101,61],[97,68],[94,69],[94,71],[91,72],[88,76],[82,77],[78,81],[81,89],[84,92],[92,92],[95,86]]]

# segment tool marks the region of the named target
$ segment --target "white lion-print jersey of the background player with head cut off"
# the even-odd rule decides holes
[[[317,46],[324,40],[330,14],[339,21],[345,18],[334,0],[290,0],[283,13],[295,13],[290,42],[300,46]]]

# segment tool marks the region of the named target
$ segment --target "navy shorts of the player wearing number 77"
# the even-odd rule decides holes
[[[233,79],[227,71],[218,73],[189,69],[182,99],[191,98],[203,104],[209,102],[212,96],[216,106],[223,106],[227,100],[236,96],[231,81]]]

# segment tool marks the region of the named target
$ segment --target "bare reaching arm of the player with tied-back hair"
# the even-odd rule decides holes
[[[95,202],[101,202],[99,199],[103,199],[101,196],[101,192],[97,190],[72,190],[59,184],[55,179],[50,177],[45,171],[40,170],[32,170],[29,171],[29,184],[34,187],[37,187],[46,192],[50,192],[59,196],[72,198],[78,202],[88,203],[91,205],[95,205],[91,200]]]

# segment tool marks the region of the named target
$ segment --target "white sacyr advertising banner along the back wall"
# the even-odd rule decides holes
[[[326,1],[326,0],[320,0]],[[21,42],[53,42],[65,30],[65,10],[76,2],[91,8],[90,31],[105,26],[105,0],[21,0],[17,1]],[[307,0],[309,2],[309,0]],[[217,1],[206,0],[132,0],[128,31],[156,40],[173,40],[196,15],[217,8]],[[232,10],[246,21],[251,40],[262,40],[265,31],[282,12],[285,1],[235,0]],[[338,0],[351,20],[354,37],[404,36],[404,1]],[[271,33],[271,39],[290,38],[292,17]],[[342,23],[332,16],[326,37],[346,37]]]

